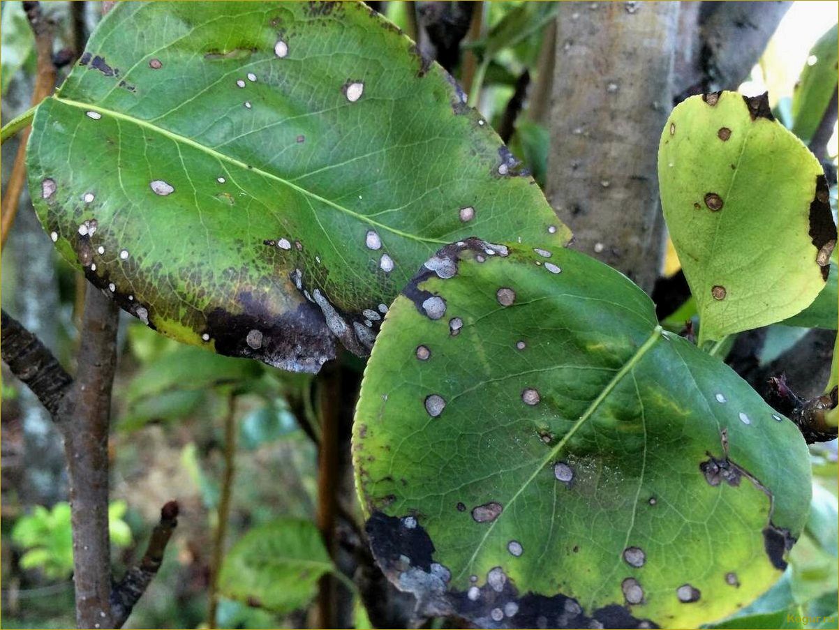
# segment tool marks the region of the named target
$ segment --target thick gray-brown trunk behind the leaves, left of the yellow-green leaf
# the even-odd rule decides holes
[[[560,3],[547,193],[572,247],[650,291],[663,255],[656,149],[678,3]]]

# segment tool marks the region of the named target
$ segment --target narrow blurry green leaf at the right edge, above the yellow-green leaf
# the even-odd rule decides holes
[[[839,27],[836,24],[810,49],[804,70],[792,96],[792,131],[809,143],[824,117],[836,90],[836,60],[839,49]]]

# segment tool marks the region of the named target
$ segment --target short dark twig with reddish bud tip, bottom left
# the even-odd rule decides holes
[[[125,572],[122,580],[111,590],[111,614],[113,626],[122,627],[133,607],[163,564],[166,545],[178,526],[178,502],[169,501],[160,509],[160,522],[154,526],[149,546],[138,565]]]

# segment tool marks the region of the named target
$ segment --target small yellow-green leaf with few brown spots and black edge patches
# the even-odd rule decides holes
[[[701,341],[791,317],[824,288],[836,246],[827,182],[766,95],[723,91],[675,107],[659,185]]]

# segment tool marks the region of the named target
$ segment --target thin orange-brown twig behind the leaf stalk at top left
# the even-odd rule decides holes
[[[29,26],[35,36],[35,50],[38,54],[38,70],[35,75],[35,86],[32,92],[32,104],[38,105],[44,98],[50,96],[55,88],[55,65],[52,60],[53,29],[50,20],[41,13],[40,3],[24,2],[23,10],[29,19]],[[20,195],[26,180],[26,143],[29,140],[31,128],[26,128],[20,138],[18,154],[14,157],[12,174],[9,175],[6,193],[0,204],[0,247],[6,244],[8,232],[18,214]]]

